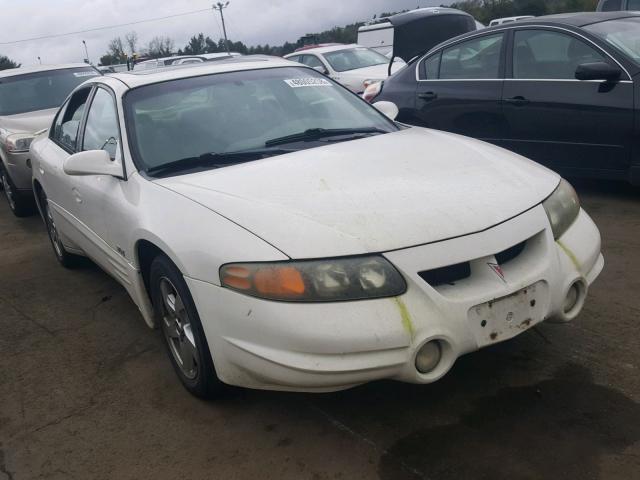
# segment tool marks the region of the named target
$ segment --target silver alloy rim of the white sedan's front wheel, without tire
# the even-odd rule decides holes
[[[189,314],[176,287],[167,277],[160,279],[160,294],[162,330],[169,350],[182,374],[193,380],[198,376],[198,349]]]

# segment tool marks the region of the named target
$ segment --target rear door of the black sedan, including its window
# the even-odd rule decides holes
[[[422,60],[413,123],[498,143],[505,44],[504,32],[480,35]]]

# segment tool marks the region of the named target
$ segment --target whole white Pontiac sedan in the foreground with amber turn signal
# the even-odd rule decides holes
[[[31,154],[57,259],[119,281],[202,397],[433,382],[574,319],[604,263],[555,173],[285,60],[91,79]]]

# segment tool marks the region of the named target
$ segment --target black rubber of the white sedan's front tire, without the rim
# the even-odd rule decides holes
[[[189,379],[184,376],[180,366],[173,357],[163,331],[162,322],[164,320],[162,319],[161,313],[162,297],[160,293],[160,280],[162,277],[166,277],[171,281],[182,298],[182,302],[184,303],[187,314],[189,315],[189,322],[192,326],[193,336],[198,351],[198,375],[195,379]],[[149,271],[149,287],[158,329],[162,335],[169,360],[171,361],[176,374],[180,378],[180,381],[189,392],[197,397],[210,399],[217,396],[222,387],[222,383],[218,380],[215,373],[209,345],[202,328],[202,323],[200,322],[200,316],[198,315],[191,292],[189,291],[189,287],[187,286],[182,273],[165,255],[157,256],[151,263]]]

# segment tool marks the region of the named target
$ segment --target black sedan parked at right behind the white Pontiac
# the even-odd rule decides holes
[[[638,73],[639,15],[554,15],[441,44],[365,97],[561,173],[638,184]]]

